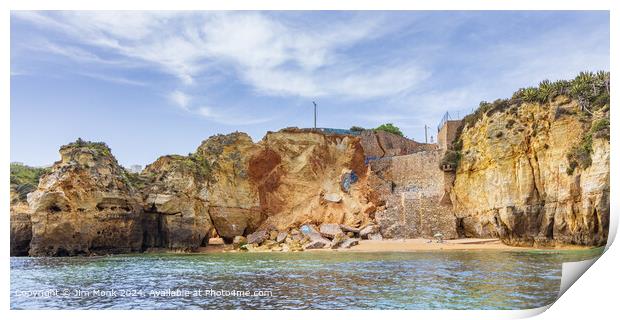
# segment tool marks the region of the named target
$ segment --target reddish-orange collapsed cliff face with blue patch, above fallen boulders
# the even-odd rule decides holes
[[[263,228],[304,223],[360,226],[375,210],[359,138],[310,131],[270,132],[250,160]]]

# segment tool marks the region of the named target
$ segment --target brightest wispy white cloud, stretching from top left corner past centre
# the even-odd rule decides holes
[[[380,17],[308,28],[257,12],[13,14],[81,44],[153,64],[184,85],[219,66],[263,95],[367,99],[408,90],[427,75],[412,63],[369,67],[340,54],[377,37]],[[48,50],[76,60],[101,59],[72,47],[50,44]]]

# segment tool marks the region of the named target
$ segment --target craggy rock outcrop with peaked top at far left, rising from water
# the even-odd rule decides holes
[[[102,143],[61,147],[61,160],[28,195],[29,254],[125,253],[142,248],[142,207]]]

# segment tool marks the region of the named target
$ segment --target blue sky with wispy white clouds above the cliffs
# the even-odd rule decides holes
[[[78,137],[124,166],[214,134],[393,123],[609,70],[606,11],[12,11],[11,161]]]

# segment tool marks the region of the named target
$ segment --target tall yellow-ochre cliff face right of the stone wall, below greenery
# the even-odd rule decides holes
[[[606,116],[597,113],[592,121]],[[593,135],[591,165],[568,173],[567,154],[588,129],[578,103],[563,96],[512,106],[466,127],[451,192],[464,236],[516,245],[604,245],[608,138]]]

